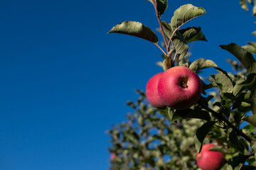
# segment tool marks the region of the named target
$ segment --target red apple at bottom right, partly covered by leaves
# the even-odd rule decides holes
[[[196,164],[203,170],[218,170],[225,164],[225,154],[217,151],[209,151],[214,144],[203,145],[201,152],[196,153]]]

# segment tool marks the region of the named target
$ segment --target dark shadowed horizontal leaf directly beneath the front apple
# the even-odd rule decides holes
[[[172,116],[171,122],[174,122],[176,120],[181,120],[184,118],[198,118],[202,120],[210,121],[210,115],[207,111],[195,111],[191,108],[188,108],[186,110],[178,110],[174,112],[174,115]]]

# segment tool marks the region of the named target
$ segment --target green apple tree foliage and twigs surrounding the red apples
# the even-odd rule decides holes
[[[167,0],[148,0],[159,21],[163,44],[153,30],[135,21],[124,21],[109,33],[122,33],[154,43],[164,54],[159,63],[164,71],[183,65],[198,74],[213,67],[217,73],[203,77],[203,94],[186,110],[165,111],[151,106],[144,91],[137,90],[137,101],[128,101],[134,109],[127,121],[108,131],[112,147],[110,169],[198,169],[196,152],[203,144],[217,143],[211,150],[225,153],[222,169],[256,169],[256,42],[241,47],[235,43],[220,45],[234,58],[229,59],[234,72],[226,72],[208,59],[189,60],[188,43],[204,40],[200,27],[181,28],[193,18],[206,13],[201,7],[185,4],[176,11],[171,22],[161,21]],[[240,1],[247,10],[247,2]],[[256,15],[256,7],[253,7]],[[255,32],[252,33],[256,35]],[[162,49],[163,46],[164,49]]]

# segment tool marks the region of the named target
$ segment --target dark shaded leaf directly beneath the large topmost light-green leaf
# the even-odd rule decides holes
[[[196,41],[196,40],[206,40],[206,36],[203,35],[203,32],[200,27],[190,27],[186,29],[181,29],[179,32],[183,35],[183,38],[186,43]]]

